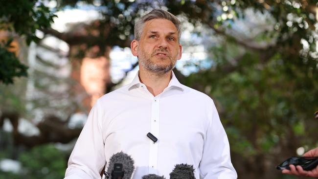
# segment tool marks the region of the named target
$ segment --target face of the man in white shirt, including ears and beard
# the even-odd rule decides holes
[[[178,30],[169,20],[154,19],[145,22],[140,41],[131,44],[138,57],[140,70],[164,74],[175,67],[181,58]]]

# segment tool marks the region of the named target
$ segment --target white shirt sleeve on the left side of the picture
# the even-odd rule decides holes
[[[102,111],[99,102],[91,109],[86,124],[68,159],[65,179],[101,179],[106,159],[102,135]]]

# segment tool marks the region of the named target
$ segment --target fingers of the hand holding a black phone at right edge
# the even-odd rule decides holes
[[[318,157],[318,147],[306,152],[303,157]],[[282,170],[283,174],[303,176],[303,177],[315,177],[318,178],[318,166],[310,171],[305,171],[301,166],[289,165],[290,170]]]

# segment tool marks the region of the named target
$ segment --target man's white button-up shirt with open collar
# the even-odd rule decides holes
[[[146,134],[158,138],[154,143]],[[196,179],[236,179],[229,144],[213,100],[179,83],[153,96],[139,80],[99,98],[69,157],[65,179],[99,179],[117,152],[135,161],[133,179],[169,174],[176,164]]]

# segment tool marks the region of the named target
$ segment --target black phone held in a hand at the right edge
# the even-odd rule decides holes
[[[300,165],[304,170],[312,170],[318,165],[318,157],[290,157],[277,165],[278,170],[288,169],[289,165]]]

